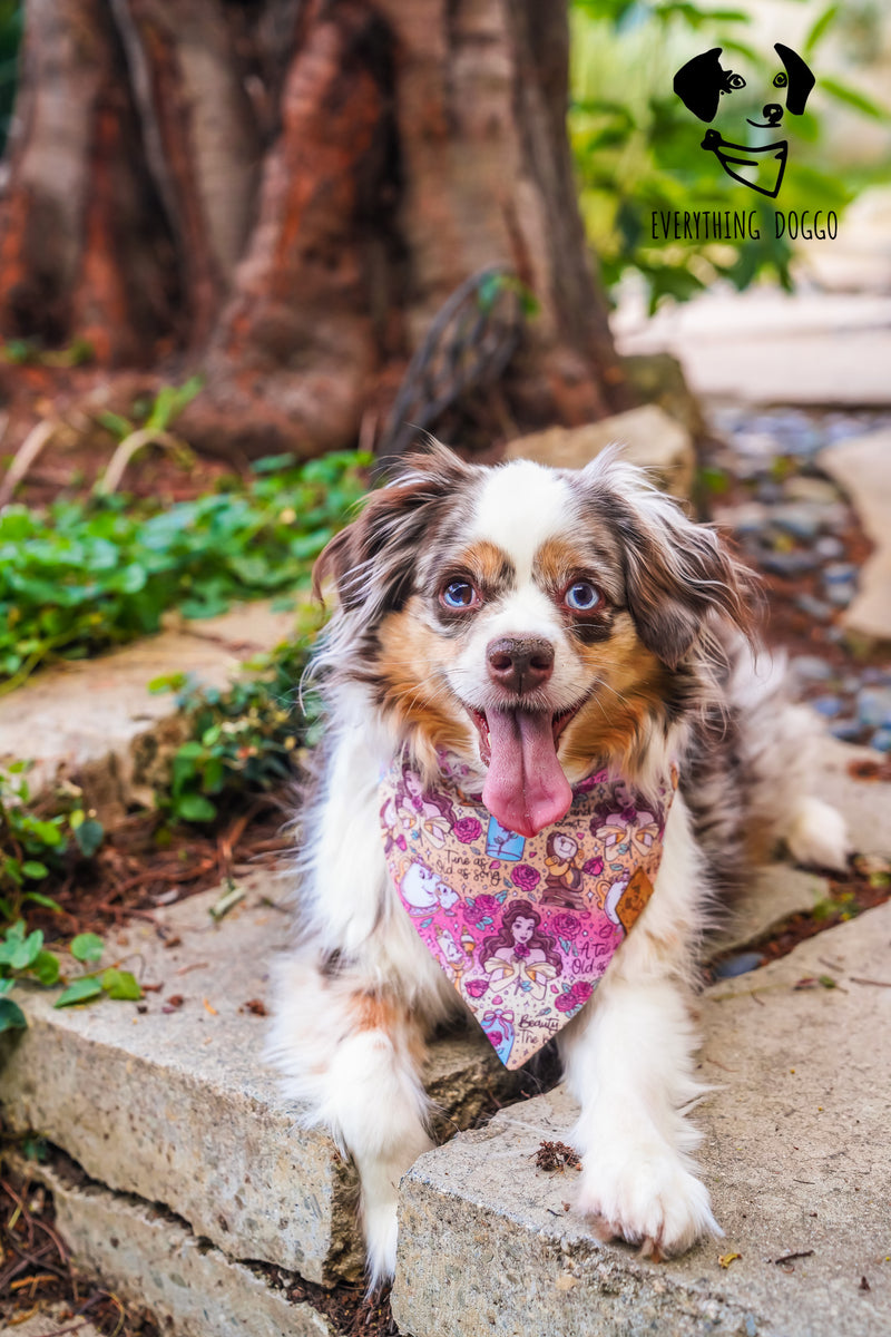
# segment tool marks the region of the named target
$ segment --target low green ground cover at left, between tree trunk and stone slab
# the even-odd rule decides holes
[[[309,587],[313,560],[365,491],[369,457],[258,461],[246,489],[159,509],[118,496],[0,516],[0,693],[53,658],[158,631],[162,614]]]

